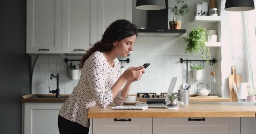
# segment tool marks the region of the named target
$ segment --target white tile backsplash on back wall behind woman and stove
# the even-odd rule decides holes
[[[71,94],[74,87],[77,85],[78,80],[71,80],[69,78],[69,72],[67,70],[67,64],[64,62],[65,57],[69,59],[78,59],[74,56],[39,56],[37,62],[40,64],[35,65],[33,73],[32,93],[50,94],[48,93],[48,87],[52,90],[56,89],[56,78],[50,79],[50,75],[57,75],[59,73],[59,89],[61,94]],[[80,56],[81,58],[82,56]],[[183,82],[186,81],[186,62],[180,63],[180,57],[187,58],[185,56],[171,56],[171,55],[131,55],[122,59],[130,58],[131,62],[123,62],[125,68],[137,67],[145,62],[151,63],[146,69],[146,73],[142,75],[141,80],[134,82],[131,86],[130,94],[136,94],[137,92],[156,92],[160,94],[167,92],[172,77],[178,77],[175,90],[181,88]],[[200,59],[200,56],[194,56],[192,58]],[[43,60],[47,60],[46,62]],[[59,61],[63,60],[63,61]],[[152,62],[151,62],[152,60]],[[45,63],[45,64],[44,64]],[[70,63],[70,62],[69,62]],[[78,64],[79,62],[72,62]],[[189,66],[190,67],[190,66]],[[207,66],[209,70],[212,67]],[[206,68],[207,68],[206,67]],[[214,68],[214,66],[213,66]],[[208,70],[207,70],[208,71]],[[192,73],[189,68],[189,80],[192,80]],[[208,74],[207,74],[208,75]],[[194,86],[197,82],[191,81]]]

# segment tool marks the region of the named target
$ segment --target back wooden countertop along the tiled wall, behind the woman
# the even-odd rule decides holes
[[[61,98],[55,98],[54,96],[55,95],[28,94],[28,95],[21,96],[21,102],[65,102],[70,95],[60,95]],[[136,98],[136,101],[146,102],[147,98]],[[221,98],[221,97],[198,98],[198,97],[190,96],[189,101],[190,102],[227,102],[227,101],[230,101],[230,98]]]

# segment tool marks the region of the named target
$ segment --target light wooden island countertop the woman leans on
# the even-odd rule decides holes
[[[131,106],[131,105],[130,105]],[[112,110],[112,106],[94,106],[88,118],[163,118],[163,117],[256,117],[256,103],[194,102],[179,110],[148,108],[146,110]]]

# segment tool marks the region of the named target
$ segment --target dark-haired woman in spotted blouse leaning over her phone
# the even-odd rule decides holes
[[[117,105],[125,101],[132,82],[140,80],[145,69],[130,67],[120,75],[117,57],[128,56],[136,36],[136,25],[117,20],[107,27],[101,41],[86,51],[79,64],[80,80],[59,111],[60,134],[88,134],[90,107],[98,104],[105,108],[112,101]]]

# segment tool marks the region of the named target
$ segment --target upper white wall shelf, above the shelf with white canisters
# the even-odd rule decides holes
[[[221,21],[221,16],[194,16],[192,22],[217,23]]]

